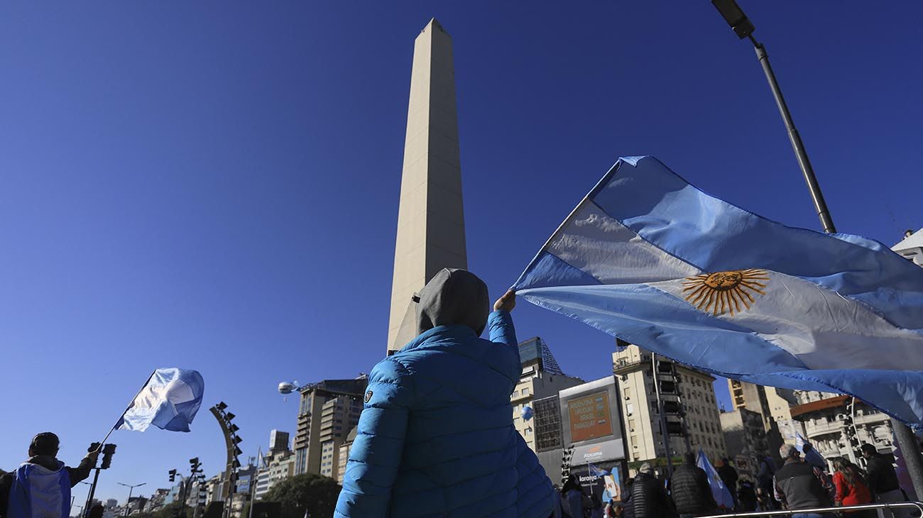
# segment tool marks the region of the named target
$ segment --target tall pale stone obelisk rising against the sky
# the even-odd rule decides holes
[[[433,18],[414,41],[391,281],[389,354],[414,337],[414,325],[402,328],[414,292],[442,268],[467,265],[452,41]]]

